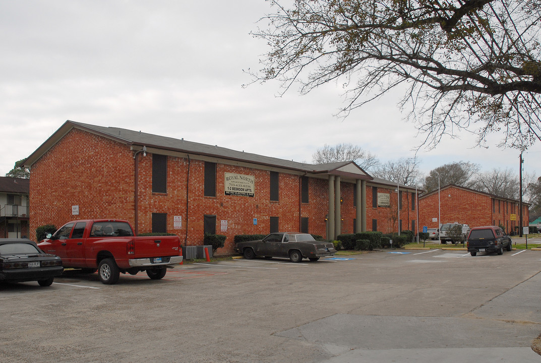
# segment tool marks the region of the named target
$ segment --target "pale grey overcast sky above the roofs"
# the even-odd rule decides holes
[[[264,0],[0,2],[0,175],[29,156],[66,120],[141,130],[312,162],[325,144],[353,143],[381,162],[414,156],[421,142],[397,107],[399,94],[345,120],[335,84],[283,97],[278,82],[252,84],[265,41],[249,35],[269,13]],[[470,161],[511,168],[517,150],[474,148],[475,137],[420,150],[421,171]],[[524,168],[541,168],[541,145]],[[54,170],[51,170],[51,175]]]

